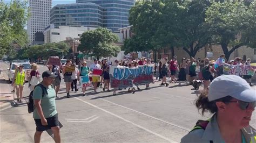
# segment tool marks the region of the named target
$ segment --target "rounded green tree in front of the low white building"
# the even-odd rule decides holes
[[[117,35],[106,28],[97,28],[96,30],[84,32],[80,42],[79,51],[86,52],[97,58],[111,55],[117,56],[120,51],[120,47],[114,44],[118,42]]]

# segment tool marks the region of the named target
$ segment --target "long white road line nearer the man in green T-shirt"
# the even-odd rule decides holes
[[[107,111],[107,110],[105,110],[105,109],[103,109],[103,108],[100,108],[100,107],[98,107],[98,106],[96,106],[96,105],[93,105],[93,104],[91,104],[91,103],[89,103],[89,102],[83,101],[82,99],[79,99],[79,98],[77,98],[77,97],[75,97],[75,98],[76,98],[77,100],[79,100],[79,101],[82,101],[82,102],[84,102],[84,103],[86,103],[86,104],[88,104],[88,105],[93,106],[94,108],[97,108],[97,109],[102,110],[102,111],[104,111],[104,112],[106,112],[106,113],[109,113],[110,115],[112,115],[112,116],[114,116],[114,117],[117,117],[117,118],[119,118],[119,119],[122,119],[122,120],[126,121],[127,123],[131,123],[132,125],[137,126],[137,127],[141,128],[141,129],[143,129],[143,130],[145,130],[145,131],[147,131],[147,132],[149,132],[149,133],[152,133],[152,134],[154,134],[154,135],[156,135],[156,136],[158,136],[158,137],[160,137],[160,138],[162,138],[162,139],[164,139],[164,140],[167,140],[167,141],[169,141],[169,142],[176,142],[176,141],[173,141],[173,140],[171,140],[171,139],[169,139],[169,138],[164,137],[164,136],[161,135],[161,134],[158,134],[158,133],[156,133],[156,132],[153,132],[153,131],[151,131],[151,130],[149,130],[149,129],[143,127],[143,126],[140,126],[140,125],[138,125],[138,124],[135,124],[135,123],[133,123],[133,122],[130,121],[130,120],[127,120],[127,119],[125,119],[125,118],[123,118],[123,117],[120,117],[120,116],[118,116],[118,115],[116,115],[116,114],[114,114],[114,113],[112,113],[112,112],[110,112],[110,111]]]

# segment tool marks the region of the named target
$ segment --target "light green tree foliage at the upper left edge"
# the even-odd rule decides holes
[[[28,44],[28,35],[24,30],[28,18],[25,2],[0,2],[0,54],[9,54],[15,46]]]

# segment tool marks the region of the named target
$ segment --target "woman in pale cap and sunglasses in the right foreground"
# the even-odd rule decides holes
[[[249,125],[255,102],[255,90],[241,77],[215,78],[208,94],[201,94],[196,100],[202,115],[210,111],[213,116],[207,121],[199,120],[181,142],[256,142],[256,130]]]

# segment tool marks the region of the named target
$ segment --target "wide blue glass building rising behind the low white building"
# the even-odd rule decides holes
[[[134,0],[76,0],[75,4],[59,4],[50,11],[50,24],[56,27],[106,27],[112,32],[129,26],[129,10]]]

